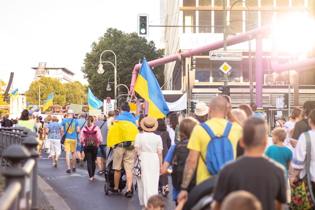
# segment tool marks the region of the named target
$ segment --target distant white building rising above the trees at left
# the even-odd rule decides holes
[[[65,67],[47,66],[46,62],[40,62],[38,67],[32,67],[35,70],[34,81],[40,80],[41,77],[50,77],[63,83],[73,83],[74,73]]]

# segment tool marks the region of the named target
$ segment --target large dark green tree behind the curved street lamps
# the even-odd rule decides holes
[[[117,56],[117,76],[120,84],[130,86],[133,67],[136,63],[142,61],[143,57],[147,61],[160,58],[164,54],[164,50],[156,49],[153,41],[147,42],[144,37],[138,37],[136,33],[124,33],[117,29],[109,28],[106,33],[93,42],[91,52],[86,54],[84,66],[81,71],[88,80],[91,91],[94,96],[100,100],[104,100],[110,96],[114,99],[114,66],[110,63],[102,63],[105,73],[100,75],[97,73],[100,62],[100,55],[104,50],[112,50]],[[102,61],[110,61],[115,65],[115,56],[111,52],[105,52],[102,55]],[[159,81],[160,86],[164,85],[164,66],[156,66],[152,70]],[[110,77],[111,76],[111,77]],[[110,77],[110,79],[109,79]],[[106,90],[108,82],[111,84],[112,90]],[[117,78],[118,83],[118,78]],[[127,92],[126,88],[121,87],[121,92]],[[117,90],[118,96],[118,90]]]

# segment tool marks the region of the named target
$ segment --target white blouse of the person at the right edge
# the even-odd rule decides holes
[[[315,181],[315,130],[307,131],[310,135],[310,180]],[[291,166],[295,169],[302,169],[299,177],[303,178],[306,175],[306,137],[305,134],[301,134],[298,138]]]

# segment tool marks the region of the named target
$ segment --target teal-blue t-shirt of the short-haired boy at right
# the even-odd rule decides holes
[[[272,145],[268,147],[265,155],[278,163],[281,163],[285,168],[286,177],[288,178],[287,162],[292,160],[292,151],[287,147]]]

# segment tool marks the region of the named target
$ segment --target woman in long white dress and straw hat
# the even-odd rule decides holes
[[[141,176],[137,177],[137,184],[142,209],[146,209],[146,203],[150,196],[159,194],[163,144],[161,136],[153,133],[158,125],[157,121],[151,116],[143,118],[141,127],[144,132],[137,134],[134,144],[134,162],[136,162],[138,153],[141,160]]]

